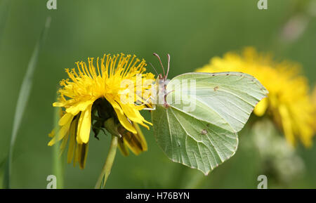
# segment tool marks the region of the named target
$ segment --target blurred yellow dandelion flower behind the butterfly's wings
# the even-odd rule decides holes
[[[284,132],[291,145],[297,140],[305,146],[312,145],[315,120],[308,94],[307,79],[299,75],[300,66],[287,61],[275,63],[270,55],[259,54],[254,48],[245,48],[242,55],[226,53],[215,57],[197,72],[245,72],[256,77],[266,89],[268,98],[256,105],[254,113],[261,117],[268,114]]]

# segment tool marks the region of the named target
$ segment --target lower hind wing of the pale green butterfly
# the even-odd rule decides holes
[[[152,111],[158,145],[173,162],[209,173],[237,150],[237,133],[159,105]]]

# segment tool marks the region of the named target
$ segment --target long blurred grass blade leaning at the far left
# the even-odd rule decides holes
[[[13,149],[15,145],[15,140],[18,134],[18,129],[20,127],[23,113],[25,111],[25,107],[27,105],[29,93],[32,89],[33,75],[34,75],[35,67],[37,66],[37,61],[39,59],[39,53],[46,39],[46,34],[48,32],[48,27],[50,26],[50,24],[51,24],[51,17],[48,17],[46,19],[45,27],[43,31],[41,32],[41,37],[39,37],[39,40],[37,41],[37,44],[32,53],[32,57],[29,60],[29,64],[27,66],[27,72],[25,74],[25,77],[22,81],[22,86],[20,88],[18,102],[15,107],[13,129],[12,129],[12,134],[11,134],[11,142],[10,142],[10,148],[8,152],[8,159],[6,162],[6,171],[5,171],[5,176],[4,176],[5,188],[11,188],[12,158],[13,158]]]

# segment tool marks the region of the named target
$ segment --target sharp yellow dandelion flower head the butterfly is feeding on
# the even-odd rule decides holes
[[[88,58],[88,65],[77,62],[77,70],[66,69],[69,79],[60,81],[58,101],[54,107],[62,108],[58,122],[59,131],[48,145],[62,140],[61,152],[69,140],[67,162],[79,162],[84,168],[88,152],[91,129],[98,138],[98,132],[106,129],[114,136],[119,136],[119,148],[128,155],[128,148],[138,155],[147,150],[147,143],[138,124],[149,127],[140,114],[148,103],[154,75],[145,73],[145,60],[136,55],[104,55],[96,59]],[[143,81],[143,83],[142,83]]]

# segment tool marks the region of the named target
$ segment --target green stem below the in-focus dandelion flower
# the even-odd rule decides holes
[[[117,153],[117,136],[112,136],[111,145],[109,153],[107,154],[107,159],[100,173],[98,181],[96,183],[96,189],[105,188],[105,183],[107,182],[107,177],[110,175],[112,165],[114,162],[115,154]]]

